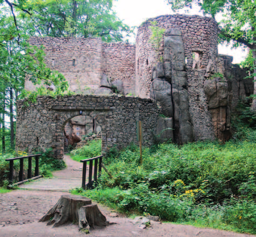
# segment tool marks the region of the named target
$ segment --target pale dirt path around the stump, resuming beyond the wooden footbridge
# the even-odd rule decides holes
[[[70,161],[68,168],[55,173],[57,177],[75,177],[81,164]],[[77,170],[77,172],[76,172]],[[65,172],[66,171],[66,172]],[[38,220],[57,202],[66,192],[14,190],[7,194],[0,194],[0,236],[1,237],[73,237],[85,236],[78,231],[75,224],[68,224],[58,228],[38,223]],[[122,216],[112,216],[113,213],[105,206],[99,205],[100,210],[110,223],[106,228],[92,230],[87,236],[91,237],[131,237],[131,236],[171,236],[171,237],[248,237],[254,235],[237,234],[228,231],[201,229],[193,226],[175,225],[151,221],[151,228],[140,229],[132,224],[131,219]]]

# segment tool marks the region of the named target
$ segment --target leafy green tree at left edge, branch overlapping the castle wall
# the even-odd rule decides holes
[[[0,13],[0,118],[3,152],[6,148],[6,131],[10,132],[10,144],[14,148],[14,105],[24,88],[25,78],[35,84],[53,84],[57,92],[63,92],[68,87],[61,73],[46,67],[42,48],[29,46],[26,40],[26,34],[17,30],[13,18]],[[10,119],[8,130],[6,116]]]

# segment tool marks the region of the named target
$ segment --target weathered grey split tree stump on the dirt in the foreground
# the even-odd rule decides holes
[[[106,226],[106,217],[101,213],[91,199],[78,195],[62,195],[58,202],[39,221],[48,221],[47,225],[53,227],[67,222],[78,223],[80,229],[97,226]]]

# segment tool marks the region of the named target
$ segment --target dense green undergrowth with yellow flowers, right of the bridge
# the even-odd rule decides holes
[[[94,190],[73,190],[126,214],[256,234],[256,131],[243,140],[112,149]]]

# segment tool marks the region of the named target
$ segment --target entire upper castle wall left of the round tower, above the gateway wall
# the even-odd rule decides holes
[[[83,95],[96,92],[102,73],[111,82],[121,80],[122,93],[134,93],[135,46],[129,43],[103,43],[100,38],[31,37],[31,45],[43,45],[45,62],[61,72],[70,90]],[[26,80],[26,90],[35,86]]]

